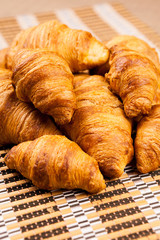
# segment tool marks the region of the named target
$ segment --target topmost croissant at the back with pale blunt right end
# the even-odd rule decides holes
[[[73,72],[102,64],[109,56],[108,49],[91,33],[71,29],[57,20],[20,32],[11,44],[7,57],[8,68],[12,67],[16,51],[22,48],[48,48],[61,55]]]

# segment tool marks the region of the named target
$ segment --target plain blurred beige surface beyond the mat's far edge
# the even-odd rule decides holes
[[[160,34],[160,0],[0,0],[0,18],[103,2],[123,3],[130,12]]]

